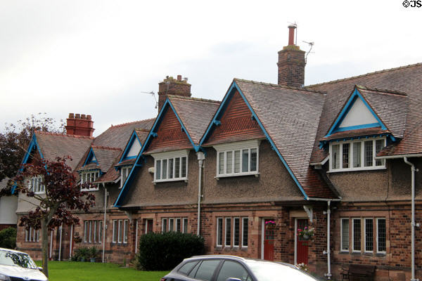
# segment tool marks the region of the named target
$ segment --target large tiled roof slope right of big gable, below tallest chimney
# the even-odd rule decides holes
[[[234,81],[307,196],[337,197],[309,166],[325,95],[274,84]]]

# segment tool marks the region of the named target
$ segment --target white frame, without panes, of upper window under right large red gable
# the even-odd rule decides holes
[[[217,169],[216,169],[216,176],[215,178],[223,178],[229,176],[248,176],[248,175],[259,175],[260,174],[260,140],[251,140],[251,141],[239,141],[235,143],[224,143],[221,145],[214,145],[213,148],[217,151]],[[256,171],[250,171],[250,150],[251,149],[257,150],[257,169]],[[240,150],[240,169],[238,173],[234,172],[234,152],[236,150]],[[248,171],[242,171],[242,157],[243,157],[243,150],[248,150]],[[231,152],[231,173],[226,173],[226,166],[227,166],[227,152]],[[224,162],[223,162],[223,173],[219,173],[219,155],[220,153],[224,153]]]

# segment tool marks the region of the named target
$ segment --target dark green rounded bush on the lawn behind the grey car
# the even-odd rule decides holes
[[[183,259],[204,254],[203,237],[191,233],[148,233],[141,236],[139,266],[143,270],[171,270]]]

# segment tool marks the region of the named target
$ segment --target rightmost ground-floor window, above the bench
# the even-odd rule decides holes
[[[349,249],[352,252],[385,254],[385,218],[340,218],[340,251]]]

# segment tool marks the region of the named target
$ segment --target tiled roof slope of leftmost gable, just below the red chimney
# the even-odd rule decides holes
[[[53,160],[56,157],[69,155],[72,161],[67,162],[73,169],[76,168],[79,159],[91,145],[94,138],[86,136],[65,135],[62,133],[46,133],[35,131],[41,153],[45,159]]]

